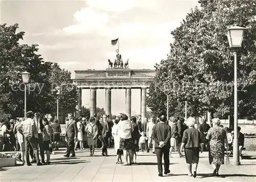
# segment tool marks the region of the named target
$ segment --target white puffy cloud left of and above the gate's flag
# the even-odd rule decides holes
[[[82,8],[74,14],[77,24],[63,28],[68,34],[89,33],[103,29],[109,22],[110,16],[106,13],[96,12],[93,8]]]

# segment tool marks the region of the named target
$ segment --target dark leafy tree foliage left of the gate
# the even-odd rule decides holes
[[[18,24],[0,25],[0,107],[2,112],[12,118],[24,116],[24,87],[20,73],[30,73],[27,86],[27,111],[43,114],[53,113],[56,109],[56,95],[52,83],[70,83],[70,73],[60,70],[58,65],[45,62],[37,54],[36,44],[20,44],[25,32],[16,32]],[[56,76],[58,75],[58,76]],[[74,110],[76,97],[74,91],[64,92],[62,110]],[[72,101],[68,100],[72,98]],[[61,99],[60,99],[61,101]],[[60,102],[61,105],[61,102]],[[73,108],[74,107],[74,108]],[[73,109],[71,109],[73,108]]]

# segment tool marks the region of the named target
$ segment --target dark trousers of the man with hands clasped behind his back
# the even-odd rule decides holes
[[[162,158],[164,161],[164,171],[169,170],[169,151],[170,148],[162,147],[162,148],[156,148],[156,154],[157,154],[157,166],[158,166],[158,172],[163,172],[163,167],[162,167]]]

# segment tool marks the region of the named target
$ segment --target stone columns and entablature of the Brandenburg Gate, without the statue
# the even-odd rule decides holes
[[[73,80],[78,88],[77,116],[81,116],[82,89],[90,89],[90,113],[96,113],[96,90],[105,89],[105,112],[111,115],[111,90],[125,89],[126,115],[131,117],[132,89],[141,89],[141,118],[146,117],[146,89],[156,74],[155,70],[106,69],[76,70]]]

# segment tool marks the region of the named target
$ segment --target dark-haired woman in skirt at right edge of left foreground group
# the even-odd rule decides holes
[[[45,125],[44,129],[42,129],[42,142],[44,145],[44,150],[46,151],[46,165],[50,164],[50,146],[51,146],[51,135],[52,128],[49,125],[49,121],[47,118],[44,118],[43,124]]]

